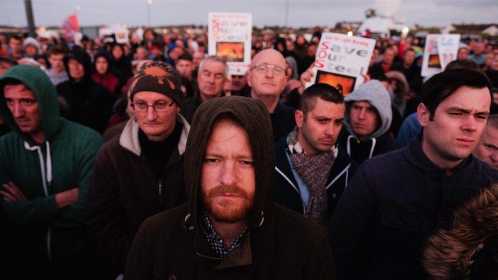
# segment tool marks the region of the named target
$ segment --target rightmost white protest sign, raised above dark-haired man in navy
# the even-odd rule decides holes
[[[441,72],[457,58],[460,34],[429,34],[426,38],[422,77],[431,77]]]

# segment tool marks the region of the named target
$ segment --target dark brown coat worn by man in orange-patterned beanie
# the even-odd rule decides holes
[[[131,122],[138,125],[135,118],[128,124]],[[185,125],[188,127],[184,123],[179,148],[185,146],[188,133]],[[127,125],[123,134],[130,131],[133,130]],[[133,138],[138,143],[138,135]],[[120,136],[116,136],[98,151],[87,199],[89,238],[96,251],[120,273],[124,272],[140,224],[148,217],[187,201],[183,150],[173,151],[164,172],[158,177],[143,152],[130,149],[129,144],[124,146]]]

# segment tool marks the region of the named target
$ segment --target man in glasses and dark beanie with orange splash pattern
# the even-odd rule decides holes
[[[119,273],[140,224],[187,201],[183,154],[190,126],[179,114],[180,81],[180,73],[167,63],[144,64],[130,85],[135,116],[97,154],[88,193],[88,232]]]

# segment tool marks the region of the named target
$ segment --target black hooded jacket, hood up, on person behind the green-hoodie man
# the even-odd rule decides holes
[[[69,73],[68,62],[77,60],[83,65],[85,75],[79,82],[69,75],[69,80],[57,85],[61,97],[61,115],[68,120],[81,123],[103,133],[112,113],[112,97],[109,90],[91,79],[93,65],[90,56],[83,50],[73,50],[64,58],[64,67]]]

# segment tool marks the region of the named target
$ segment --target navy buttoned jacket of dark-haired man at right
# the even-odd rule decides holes
[[[329,224],[338,279],[424,279],[421,247],[453,209],[498,172],[472,157],[441,169],[420,137],[404,149],[365,161],[344,191]]]

